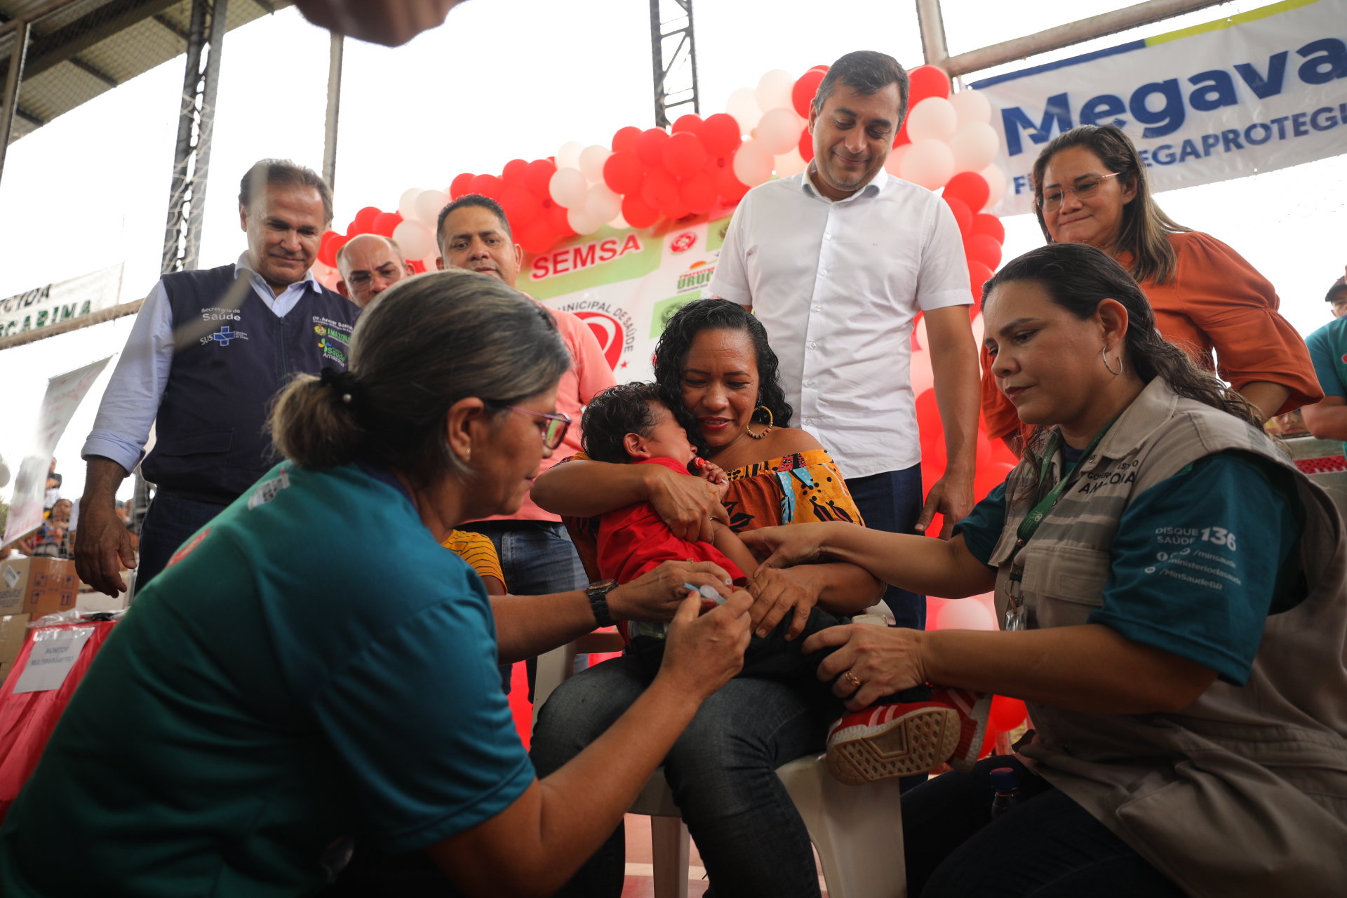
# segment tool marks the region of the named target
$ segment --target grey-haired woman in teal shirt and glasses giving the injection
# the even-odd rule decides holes
[[[364,314],[349,373],[300,376],[286,455],[137,595],[0,829],[0,894],[307,895],[353,840],[424,850],[467,895],[558,889],[700,701],[740,668],[748,594],[698,615],[665,564],[610,588],[488,599],[440,547],[511,513],[567,425],[551,318],[438,272]],[[668,621],[645,695],[539,781],[498,662],[607,622]]]

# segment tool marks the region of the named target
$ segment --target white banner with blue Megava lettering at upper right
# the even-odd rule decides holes
[[[1347,152],[1347,0],[1285,0],[982,81],[1001,132],[997,215],[1032,211],[1039,148],[1117,125],[1173,190]]]

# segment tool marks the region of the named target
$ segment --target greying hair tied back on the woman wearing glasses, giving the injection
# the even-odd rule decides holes
[[[470,475],[446,415],[477,397],[493,415],[556,385],[571,365],[552,316],[501,281],[466,271],[418,275],[370,303],[345,372],[300,374],[276,400],[272,440],[307,469],[366,460],[419,486]]]

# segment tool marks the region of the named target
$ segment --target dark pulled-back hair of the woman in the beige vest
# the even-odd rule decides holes
[[[1127,334],[1123,338],[1126,361],[1144,382],[1149,384],[1158,377],[1179,396],[1234,415],[1262,429],[1262,415],[1257,408],[1160,335],[1150,300],[1131,275],[1107,253],[1087,244],[1048,244],[1029,250],[1006,263],[985,284],[983,307],[991,302],[997,287],[1020,281],[1037,284],[1048,293],[1048,299],[1082,320],[1091,318],[1106,299],[1122,303],[1127,310]],[[1036,427],[1025,442],[1021,467],[1028,466],[1034,478],[1048,432],[1047,427]]]

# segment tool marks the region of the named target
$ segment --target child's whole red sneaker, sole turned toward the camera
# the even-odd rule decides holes
[[[828,771],[859,786],[942,763],[967,771],[978,759],[991,696],[933,687],[929,701],[876,704],[828,728]]]

